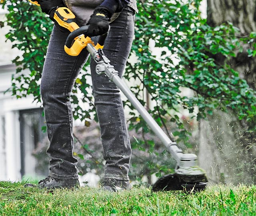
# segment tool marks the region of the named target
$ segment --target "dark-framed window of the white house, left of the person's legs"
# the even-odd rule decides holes
[[[43,109],[20,110],[21,176],[38,179],[48,174],[48,138]]]

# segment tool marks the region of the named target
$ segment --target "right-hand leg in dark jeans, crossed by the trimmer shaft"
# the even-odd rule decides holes
[[[103,50],[121,77],[134,37],[134,10],[124,8],[110,27]],[[91,60],[93,94],[106,160],[104,178],[128,181],[131,147],[119,89],[104,74],[96,74],[95,66]]]

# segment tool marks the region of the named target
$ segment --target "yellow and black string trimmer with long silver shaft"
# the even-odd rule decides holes
[[[36,1],[30,0],[33,4]],[[38,4],[38,2],[36,2]],[[66,40],[65,52],[70,56],[78,56],[80,52],[86,48],[91,54],[91,58],[97,63],[96,73],[98,75],[106,74],[108,78],[120,88],[131,104],[138,110],[142,118],[147,122],[148,126],[154,131],[156,136],[160,138],[167,151],[176,160],[175,173],[162,176],[152,186],[153,191],[162,190],[184,190],[200,191],[204,190],[207,185],[207,178],[204,170],[198,167],[197,156],[195,154],[183,154],[178,148],[176,142],[164,133],[162,128],[146,111],[144,106],[132,94],[124,81],[118,76],[118,71],[110,64],[110,60],[104,55],[102,50],[106,34],[100,36],[98,44],[95,46],[90,37],[86,36],[88,26],[79,27],[76,24],[75,15],[66,7],[58,8],[54,14],[54,19],[58,24],[70,30],[70,34]]]

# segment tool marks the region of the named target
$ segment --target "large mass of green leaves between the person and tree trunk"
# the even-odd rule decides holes
[[[137,16],[137,40],[132,49],[138,62],[130,65],[125,75],[127,79],[140,78],[141,88],[146,88],[157,104],[152,109],[154,117],[158,120],[159,116],[170,114],[168,110],[176,111],[171,112],[170,120],[184,128],[177,115],[180,107],[197,120],[218,108],[236,113],[253,129],[255,91],[226,62],[219,64],[214,59],[216,54],[226,61],[235,56],[240,46],[238,29],[230,23],[216,28],[208,26],[200,18],[200,1],[158,2],[161,4],[139,4],[143,16]],[[168,51],[164,49],[160,56],[154,56],[148,46],[150,40],[156,42],[155,47]],[[180,87],[193,90],[194,96],[183,96]],[[139,88],[135,88],[139,95]]]

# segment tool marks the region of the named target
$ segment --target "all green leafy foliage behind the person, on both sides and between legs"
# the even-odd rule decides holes
[[[19,67],[12,79],[12,93],[17,98],[33,94],[40,102],[38,84],[52,22],[26,0],[6,0],[3,5],[10,12],[5,24],[12,27],[6,38],[24,52],[22,58],[14,60]],[[158,124],[167,134],[174,131],[177,141],[186,146],[190,144],[186,121],[207,118],[214,109],[233,112],[238,120],[246,122],[249,130],[256,125],[255,91],[228,65],[240,48],[240,40],[252,44],[248,55],[255,56],[256,34],[252,32],[241,39],[237,37],[239,30],[231,23],[208,26],[200,16],[199,5],[200,0],[138,1],[131,52],[136,61],[130,58],[124,74],[126,80],[134,83],[131,89],[145,106],[149,106],[144,98],[148,93],[152,100],[149,112]],[[161,50],[160,54],[156,48]],[[214,58],[217,54],[223,57],[221,62]],[[88,76],[89,71],[80,75],[71,96],[74,118],[85,124],[97,118]],[[182,89],[190,90],[192,96],[184,95]],[[88,103],[88,108],[80,106],[79,100]],[[151,154],[155,143],[143,139],[150,130],[130,102],[124,104],[130,108],[130,130],[142,130],[142,139],[134,142],[133,147]],[[181,109],[189,113],[185,122],[180,118]]]

